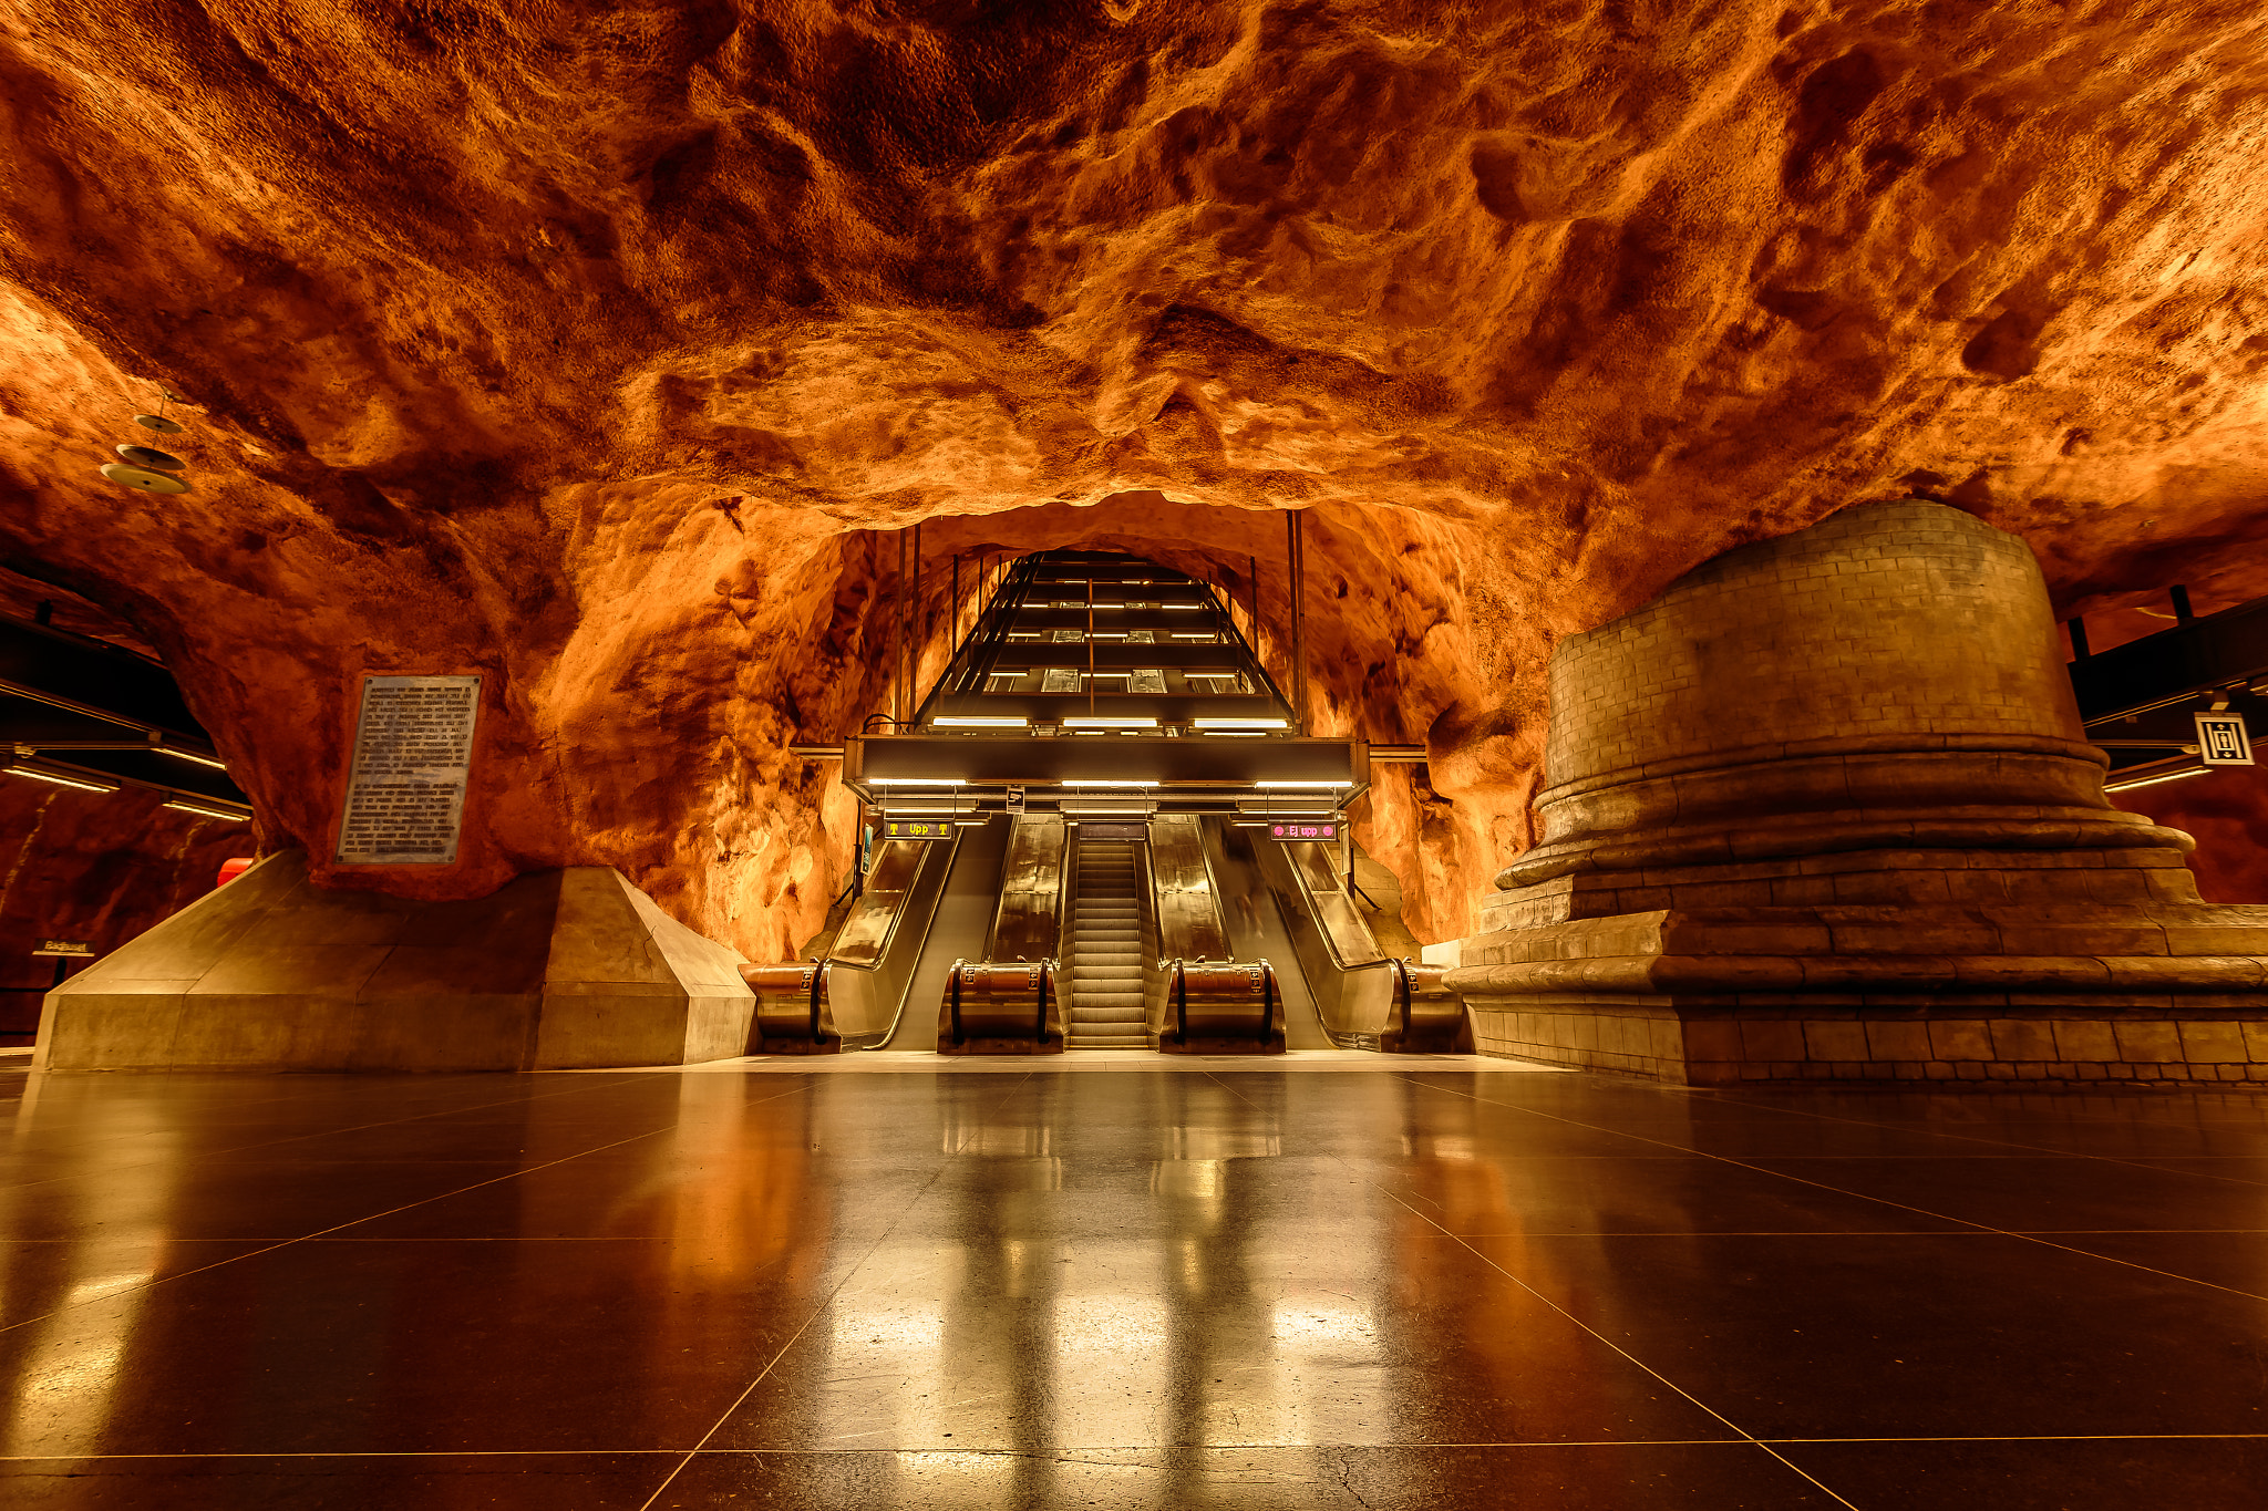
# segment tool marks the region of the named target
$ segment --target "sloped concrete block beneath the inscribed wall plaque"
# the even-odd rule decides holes
[[[48,994],[43,1069],[576,1069],[739,1056],[742,956],[608,865],[476,902],[308,883],[286,852]]]

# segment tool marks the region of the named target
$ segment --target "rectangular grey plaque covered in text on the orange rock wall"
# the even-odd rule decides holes
[[[456,861],[479,714],[479,677],[363,677],[340,865]]]

